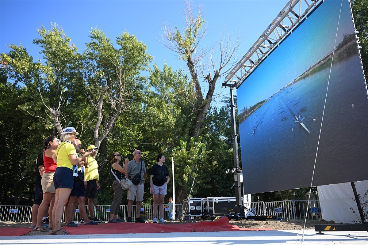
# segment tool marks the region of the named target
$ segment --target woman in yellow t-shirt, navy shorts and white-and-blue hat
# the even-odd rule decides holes
[[[96,151],[88,152],[81,157],[77,157],[74,145],[70,142],[77,138],[79,133],[75,131],[74,127],[66,127],[62,132],[60,139],[63,140],[59,147],[57,147],[52,158],[57,164],[54,174],[54,185],[56,189],[55,206],[52,210],[54,219],[52,235],[65,235],[61,230],[61,219],[63,217],[64,207],[68,202],[70,192],[74,184],[73,166],[79,162],[84,161],[86,156],[95,155]],[[77,175],[78,176],[78,175]]]

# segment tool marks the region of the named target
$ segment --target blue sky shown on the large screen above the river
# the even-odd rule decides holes
[[[348,1],[328,0],[321,4],[237,90],[238,108],[263,101],[314,65],[334,49],[344,34],[354,33]]]

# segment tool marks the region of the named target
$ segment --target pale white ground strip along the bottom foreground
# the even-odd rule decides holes
[[[0,237],[1,245],[42,244],[42,245],[244,245],[244,244],[352,244],[368,245],[368,232],[335,231],[325,235],[314,230],[304,231],[222,231],[196,233],[145,233],[145,234],[99,234],[99,235],[59,235],[59,236],[17,236]]]

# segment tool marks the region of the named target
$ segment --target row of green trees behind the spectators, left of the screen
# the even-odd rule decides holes
[[[128,32],[113,43],[103,30],[94,28],[86,49],[80,52],[57,24],[50,29],[41,26],[39,37],[33,40],[42,54],[38,61],[33,61],[27,47],[9,45],[10,51],[0,56],[1,205],[32,205],[35,159],[43,139],[50,134],[59,136],[66,126],[81,133],[85,148],[90,144],[99,147],[101,189],[96,205],[112,202],[107,156],[118,151],[132,159],[135,149],[143,152],[148,171],[161,153],[172,173],[174,157],[177,203],[188,195],[234,196],[234,177],[225,173],[234,166],[231,105],[229,98],[222,98],[223,107],[211,102],[219,96],[216,82],[232,68],[238,44],[219,42],[224,46],[213,50],[220,50],[220,61],[209,57],[209,62],[200,62],[207,53],[196,52],[206,32],[201,9],[193,14],[191,3],[186,3],[185,11],[194,19],[186,22],[183,33],[178,31],[182,28],[164,26],[163,40],[174,44],[164,42],[188,70],[173,71],[170,64],[158,67],[146,45]],[[213,69],[213,75],[203,64]],[[202,87],[209,88],[205,96]],[[258,196],[264,197],[262,201],[295,199],[308,190]],[[144,203],[151,204],[148,184],[145,191]]]

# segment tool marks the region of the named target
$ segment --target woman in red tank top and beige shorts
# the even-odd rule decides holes
[[[35,230],[38,231],[46,231],[42,228],[41,222],[42,217],[45,214],[47,206],[50,203],[49,208],[49,217],[50,217],[50,226],[52,228],[53,224],[53,215],[52,209],[55,203],[55,186],[54,186],[54,173],[56,169],[56,163],[52,159],[52,155],[54,154],[55,150],[60,144],[60,140],[55,136],[49,136],[45,138],[45,142],[43,143],[43,147],[46,149],[43,152],[43,162],[45,165],[45,171],[41,172],[41,185],[42,185],[42,192],[43,192],[43,199],[38,208],[38,215],[37,215],[37,224]]]

